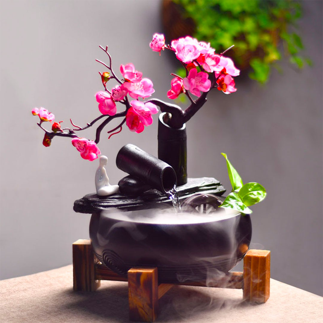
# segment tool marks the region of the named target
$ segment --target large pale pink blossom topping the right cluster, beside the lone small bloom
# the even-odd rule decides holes
[[[200,56],[200,45],[197,39],[190,36],[173,40],[171,43],[172,49],[175,51],[177,59],[188,64]]]

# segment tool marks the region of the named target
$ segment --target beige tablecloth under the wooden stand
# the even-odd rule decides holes
[[[175,286],[156,322],[323,322],[323,297],[270,280],[265,304],[242,303],[242,290]],[[0,322],[129,322],[125,282],[73,291],[72,265],[0,281]]]

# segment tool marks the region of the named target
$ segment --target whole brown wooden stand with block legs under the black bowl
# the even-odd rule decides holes
[[[265,303],[269,298],[270,251],[249,250],[244,257],[243,272],[230,272],[207,287],[242,288],[249,302]],[[157,317],[158,300],[174,284],[158,284],[156,267],[131,268],[128,278],[119,276],[96,259],[90,240],[73,243],[73,281],[76,291],[94,291],[100,280],[128,281],[129,315],[132,321],[153,322]],[[176,285],[204,286],[203,282]]]

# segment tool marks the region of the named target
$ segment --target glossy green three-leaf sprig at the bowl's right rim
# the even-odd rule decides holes
[[[229,179],[232,185],[231,193],[225,198],[220,207],[233,209],[245,214],[251,214],[248,206],[261,202],[266,197],[265,188],[256,182],[243,184],[242,179],[225,153],[221,153],[226,159]]]

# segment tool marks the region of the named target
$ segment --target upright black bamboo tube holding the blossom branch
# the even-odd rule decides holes
[[[187,183],[186,125],[171,128],[163,120],[165,115],[161,113],[158,121],[158,158],[174,168],[180,186]]]

